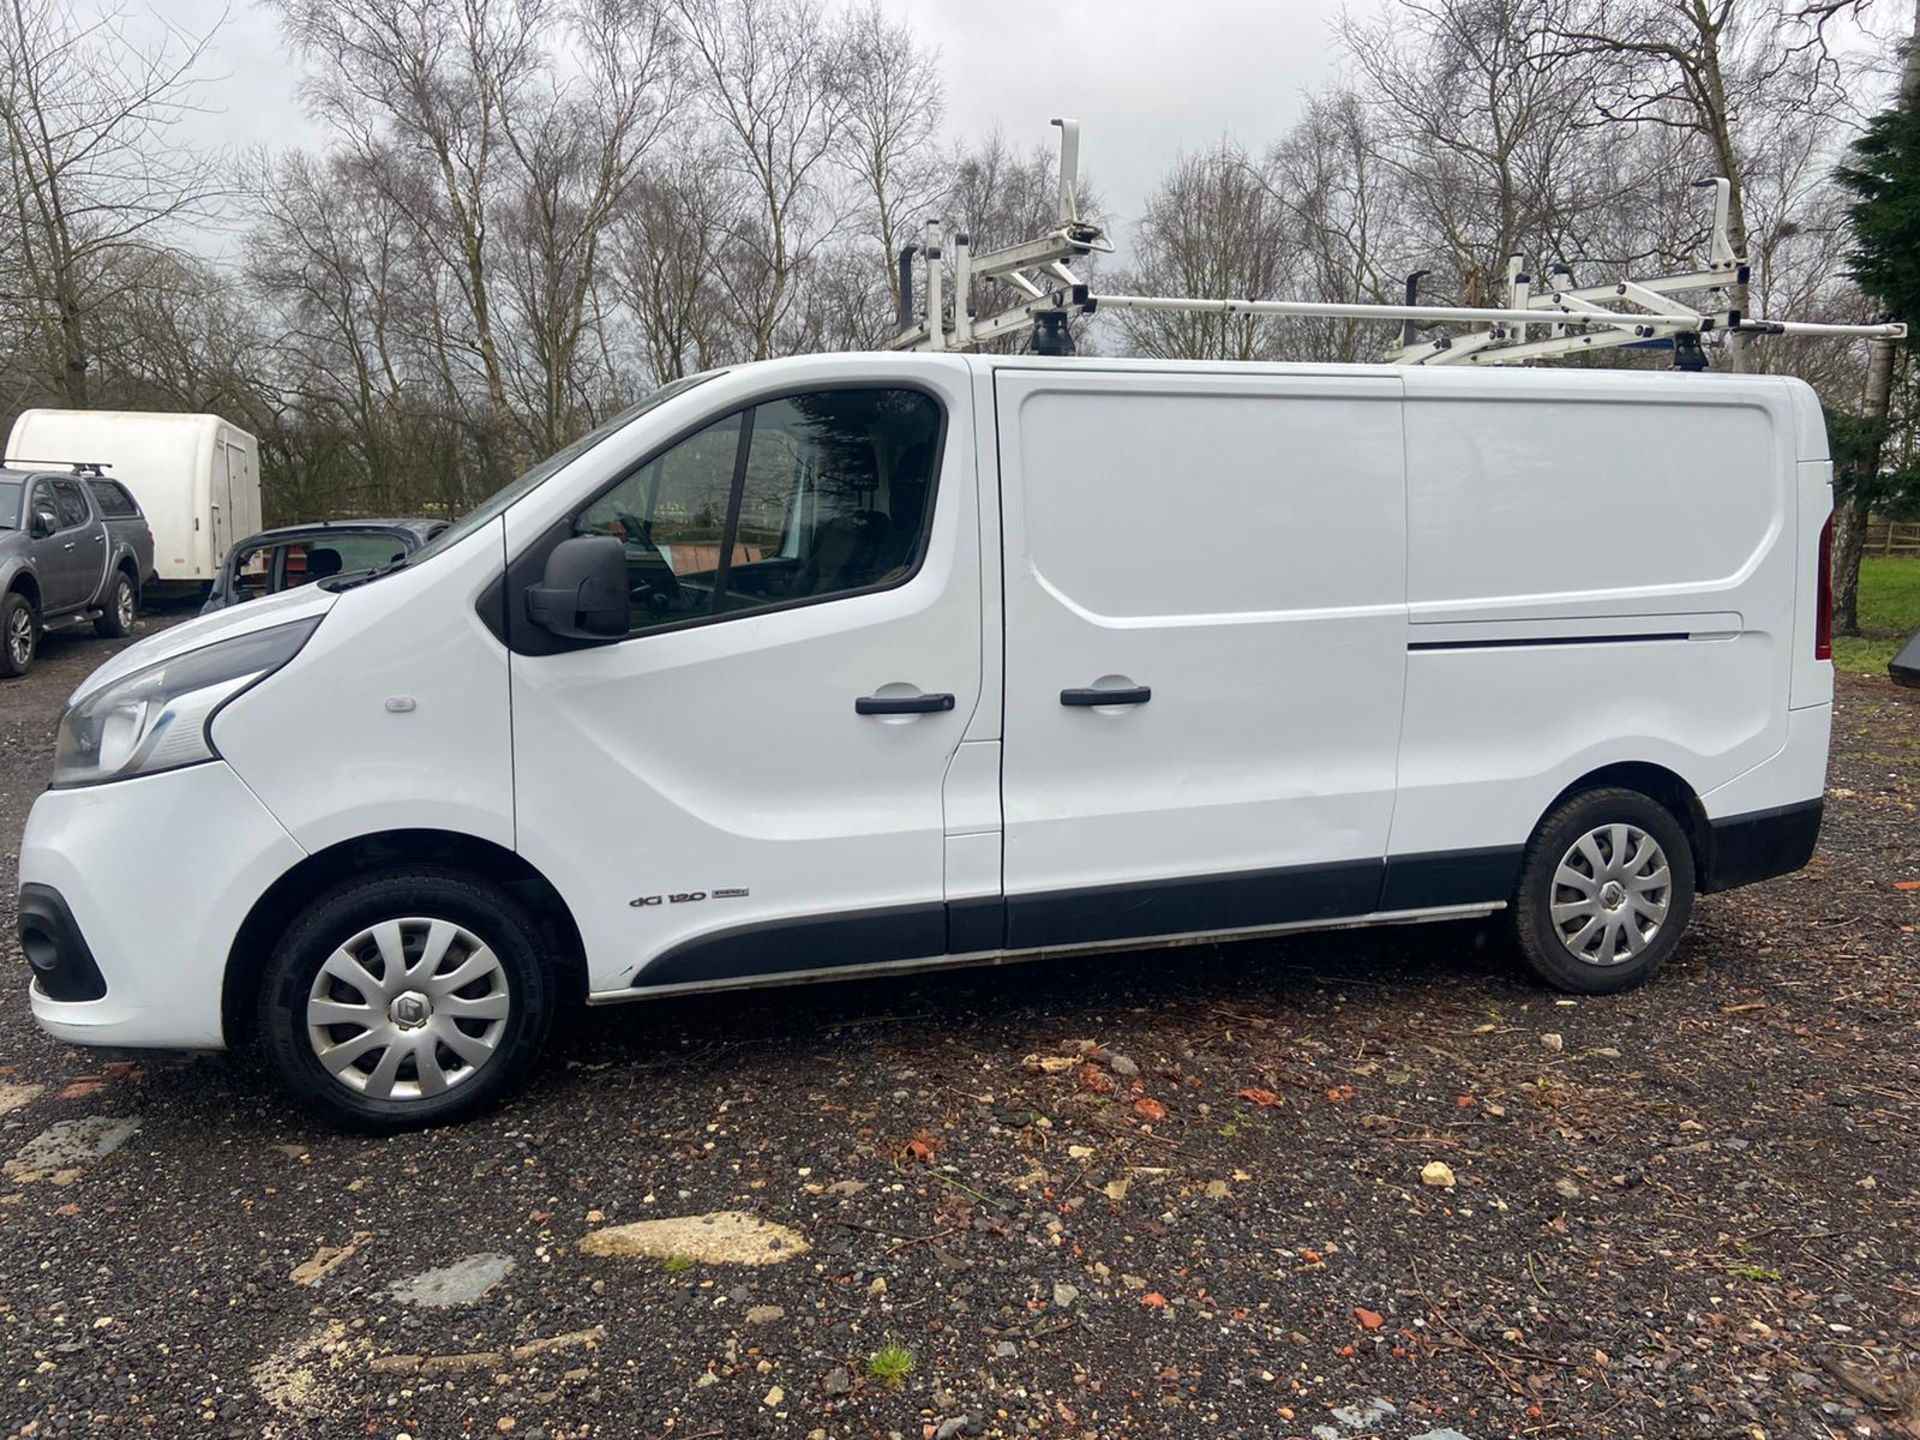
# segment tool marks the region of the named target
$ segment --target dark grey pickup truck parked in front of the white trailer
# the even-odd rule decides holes
[[[154,574],[138,501],[98,467],[0,461],[0,676],[23,676],[48,630],[132,634]]]

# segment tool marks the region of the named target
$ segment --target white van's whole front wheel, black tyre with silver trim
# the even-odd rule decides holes
[[[478,1114],[526,1073],[553,1020],[538,933],[518,904],[461,872],[342,885],[267,960],[267,1058],[303,1106],[348,1129]]]

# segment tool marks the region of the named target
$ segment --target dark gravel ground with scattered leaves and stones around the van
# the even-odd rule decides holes
[[[8,833],[108,649],[0,685]],[[1920,1436],[1920,695],[1828,795],[1615,1000],[1471,925],[672,1000],[396,1140],[10,945],[0,1432]]]

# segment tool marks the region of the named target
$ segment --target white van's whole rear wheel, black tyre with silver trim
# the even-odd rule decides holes
[[[1574,995],[1653,977],[1693,916],[1693,849],[1640,791],[1594,789],[1559,804],[1526,845],[1513,929],[1526,964]]]

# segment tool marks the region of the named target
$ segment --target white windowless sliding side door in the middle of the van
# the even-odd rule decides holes
[[[1398,374],[996,374],[1012,948],[1377,906]]]

